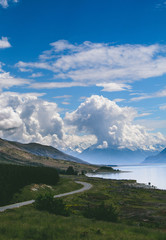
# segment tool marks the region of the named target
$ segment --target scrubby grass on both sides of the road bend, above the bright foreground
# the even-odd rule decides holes
[[[32,191],[33,185],[27,186],[14,196],[12,202],[35,199],[39,194],[46,192],[56,195],[81,188],[81,185],[74,182],[75,179],[87,181],[93,185],[93,188],[85,193],[64,198],[66,204],[78,216],[89,204],[95,207],[105,203],[117,209],[121,223],[166,229],[166,191],[133,188],[128,185],[131,181],[64,176],[60,178],[57,186],[52,186],[52,190],[48,187],[40,187],[38,191]]]

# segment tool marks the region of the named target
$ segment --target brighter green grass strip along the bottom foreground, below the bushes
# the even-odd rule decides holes
[[[2,240],[165,240],[159,230],[94,221],[82,216],[56,216],[31,207],[0,214]]]

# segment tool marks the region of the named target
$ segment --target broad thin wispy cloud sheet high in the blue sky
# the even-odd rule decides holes
[[[165,45],[111,45],[87,41],[78,45],[59,40],[50,46],[37,62],[20,61],[16,66],[27,71],[48,70],[55,81],[70,80],[68,87],[97,85],[103,86],[104,91],[129,90],[129,83],[166,73]],[[31,86],[44,88],[46,84]],[[60,87],[58,84],[54,82],[48,88]]]

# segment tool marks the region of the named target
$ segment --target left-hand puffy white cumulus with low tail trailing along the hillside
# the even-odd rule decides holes
[[[0,137],[39,142],[80,152],[97,142],[92,134],[77,135],[64,125],[56,103],[43,101],[43,94],[0,94]]]

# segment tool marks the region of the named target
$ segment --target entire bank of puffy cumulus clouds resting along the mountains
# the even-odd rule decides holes
[[[39,142],[62,150],[81,152],[97,148],[155,149],[166,144],[161,133],[150,133],[134,124],[138,116],[130,107],[98,95],[87,98],[64,118],[54,102],[38,94],[0,94],[0,137],[20,142]]]

